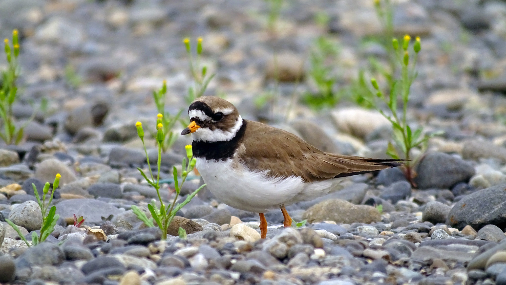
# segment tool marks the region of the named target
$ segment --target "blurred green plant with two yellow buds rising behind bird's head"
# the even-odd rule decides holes
[[[213,74],[207,74],[207,66],[200,66],[200,57],[202,55],[202,38],[197,38],[197,47],[196,52],[197,56],[195,59],[193,59],[192,53],[191,53],[191,44],[190,39],[185,38],[183,40],[183,43],[186,47],[186,53],[188,54],[188,61],[190,64],[190,72],[193,77],[193,80],[195,82],[193,87],[190,87],[188,89],[188,96],[186,97],[186,102],[190,104],[195,100],[196,98],[202,96],[207,89],[207,85],[209,85],[209,82],[213,77],[215,77],[216,73]]]

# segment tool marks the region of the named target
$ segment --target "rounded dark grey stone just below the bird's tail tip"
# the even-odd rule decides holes
[[[467,182],[475,174],[468,162],[446,153],[427,154],[416,168],[414,182],[419,189],[448,189],[459,182]]]

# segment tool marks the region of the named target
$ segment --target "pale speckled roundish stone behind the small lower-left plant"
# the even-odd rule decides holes
[[[39,230],[42,224],[42,213],[37,202],[26,201],[11,211],[9,220],[28,231]]]

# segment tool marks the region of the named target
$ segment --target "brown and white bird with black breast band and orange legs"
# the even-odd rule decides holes
[[[243,119],[220,97],[202,96],[188,108],[195,168],[207,189],[226,205],[260,217],[281,209],[284,227],[292,220],[285,206],[335,191],[343,177],[401,166],[401,159],[375,159],[323,152],[287,131]]]

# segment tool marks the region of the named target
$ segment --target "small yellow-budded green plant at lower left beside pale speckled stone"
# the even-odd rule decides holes
[[[58,218],[60,218],[60,215],[56,214],[56,206],[51,207],[51,209],[49,209],[49,213],[46,215],[46,213],[48,212],[48,208],[51,205],[51,202],[53,201],[53,195],[55,193],[55,189],[58,188],[58,185],[60,183],[60,178],[61,178],[61,175],[58,173],[55,177],[54,182],[53,182],[53,190],[51,191],[49,201],[47,204],[46,204],[46,196],[49,192],[49,187],[50,187],[49,182],[46,182],[46,184],[44,185],[44,188],[42,191],[44,196],[42,197],[42,200],[40,200],[40,197],[38,195],[37,187],[35,186],[35,184],[32,183],[33,193],[35,194],[35,198],[37,198],[37,203],[38,203],[38,206],[40,207],[40,212],[42,214],[42,225],[40,227],[40,235],[37,235],[36,232],[32,232],[32,235],[31,235],[31,237],[32,237],[31,245],[33,245],[33,246],[38,245],[40,242],[44,242],[46,240],[46,238],[48,238],[48,236],[55,230],[56,222],[58,221]],[[75,215],[74,215],[74,218],[75,218]],[[6,222],[9,223],[9,225],[11,225],[11,227],[18,233],[19,237],[21,237],[21,239],[24,240],[26,245],[28,247],[30,247],[30,244],[28,243],[26,238],[23,236],[23,234],[19,230],[18,226],[16,226],[12,221],[10,221],[8,219],[6,219]]]

